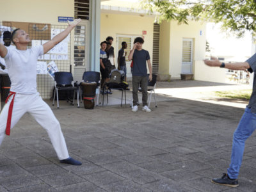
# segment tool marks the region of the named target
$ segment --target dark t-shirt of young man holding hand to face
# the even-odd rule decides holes
[[[147,60],[150,60],[148,51],[144,49],[141,51],[134,50],[132,76],[147,76]]]

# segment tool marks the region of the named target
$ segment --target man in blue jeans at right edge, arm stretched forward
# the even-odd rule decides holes
[[[243,63],[221,63],[217,58],[212,60],[204,60],[209,67],[228,68],[230,70],[246,70],[250,73],[256,72],[256,54]],[[244,114],[239,125],[234,132],[231,163],[227,169],[227,173],[223,173],[222,177],[212,179],[211,182],[223,186],[237,187],[238,174],[243,159],[245,141],[252,135],[256,129],[256,73],[253,77],[253,90],[248,106],[246,106]]]

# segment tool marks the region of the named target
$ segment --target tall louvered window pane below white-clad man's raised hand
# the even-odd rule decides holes
[[[85,26],[76,26],[74,40],[74,65],[85,65]]]

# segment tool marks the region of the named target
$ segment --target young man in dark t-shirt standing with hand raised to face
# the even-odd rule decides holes
[[[142,102],[143,108],[142,111],[151,112],[148,108],[147,100],[148,100],[148,80],[152,81],[152,65],[150,62],[150,56],[148,51],[142,49],[142,45],[144,44],[144,40],[141,37],[137,37],[134,40],[134,45],[132,51],[128,56],[128,60],[131,61],[133,59],[133,73],[132,73],[132,97],[133,97],[133,107],[132,111],[138,111],[138,89],[139,86],[142,90]],[[147,64],[149,70],[149,77],[147,79]]]

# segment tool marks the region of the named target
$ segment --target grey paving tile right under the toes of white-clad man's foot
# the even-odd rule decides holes
[[[75,173],[76,175],[85,175],[89,173],[103,172],[104,168],[93,163],[83,163],[79,166],[69,165],[64,167],[69,172]]]

